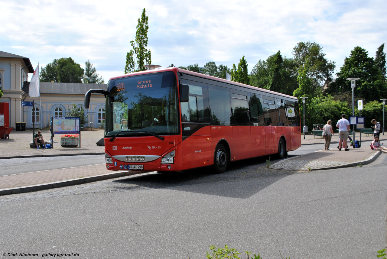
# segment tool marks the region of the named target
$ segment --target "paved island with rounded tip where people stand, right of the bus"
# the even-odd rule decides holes
[[[300,155],[281,160],[271,165],[272,169],[285,170],[321,170],[340,167],[364,165],[372,162],[380,151],[371,150],[368,144],[361,148],[350,147],[349,151],[339,151],[337,147],[331,150],[320,150],[306,155]]]

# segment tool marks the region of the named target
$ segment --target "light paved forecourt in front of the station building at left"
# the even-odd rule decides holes
[[[50,141],[51,132],[42,130],[43,138]],[[82,131],[81,147],[65,148],[60,146],[60,134],[55,135],[53,148],[30,148],[29,143],[33,139],[33,131],[12,131],[9,140],[0,139],[0,157],[25,156],[25,155],[65,155],[101,153],[104,147],[96,145],[96,142],[104,136],[103,131]]]

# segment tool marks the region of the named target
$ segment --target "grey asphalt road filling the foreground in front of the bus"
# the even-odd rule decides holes
[[[214,244],[264,259],[281,258],[279,250],[292,259],[372,258],[384,247],[386,169],[385,154],[363,167],[299,173],[256,158],[224,174],[147,173],[0,197],[0,250],[205,258]]]

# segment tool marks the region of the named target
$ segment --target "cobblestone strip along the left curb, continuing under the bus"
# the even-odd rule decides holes
[[[251,179],[252,177],[284,177],[289,174],[297,173],[296,171],[267,168],[266,163],[263,161],[264,159],[249,159],[243,160],[243,162],[234,162],[231,165],[231,169],[224,174],[212,174],[211,167],[200,170],[189,170],[183,173],[148,172],[135,176],[125,176],[76,186],[0,196],[0,203],[30,199],[47,199],[67,195],[146,191],[154,188],[170,188],[204,182],[238,181],[242,179]],[[272,162],[274,163],[276,160],[273,160]]]

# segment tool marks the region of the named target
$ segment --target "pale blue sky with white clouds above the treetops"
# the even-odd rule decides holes
[[[370,56],[387,43],[387,1],[0,0],[0,50],[34,67],[71,57],[90,60],[105,81],[123,74],[142,9],[149,16],[152,63],[208,61],[248,69],[299,41],[320,44],[337,69],[355,46]],[[387,46],[385,48],[387,50]],[[31,77],[29,77],[31,78]]]

